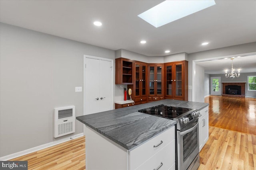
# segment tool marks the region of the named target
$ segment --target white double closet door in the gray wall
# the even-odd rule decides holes
[[[84,115],[113,109],[113,60],[84,56]]]

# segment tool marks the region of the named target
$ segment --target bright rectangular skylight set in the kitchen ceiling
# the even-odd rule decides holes
[[[214,0],[166,0],[138,17],[157,28],[213,5]]]

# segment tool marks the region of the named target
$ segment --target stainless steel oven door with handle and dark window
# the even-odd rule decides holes
[[[186,170],[199,153],[198,119],[177,131],[178,169]],[[199,160],[197,160],[199,161]]]

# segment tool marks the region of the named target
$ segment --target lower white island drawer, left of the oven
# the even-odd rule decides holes
[[[154,156],[136,168],[136,170],[153,170],[159,166],[161,166],[159,170],[168,170],[173,164],[175,164],[175,140],[162,148]]]

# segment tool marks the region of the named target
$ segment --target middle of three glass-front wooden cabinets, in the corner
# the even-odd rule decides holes
[[[148,64],[148,101],[162,100],[163,93],[163,67],[164,64]]]

